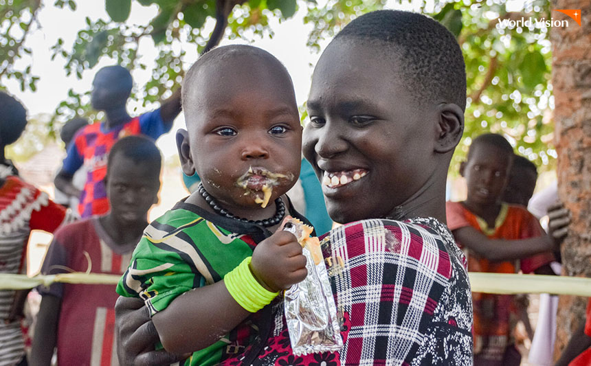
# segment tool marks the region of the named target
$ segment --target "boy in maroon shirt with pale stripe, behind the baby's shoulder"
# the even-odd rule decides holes
[[[43,262],[45,274],[71,271],[121,275],[158,201],[161,157],[152,139],[129,136],[109,154],[105,186],[111,211],[56,232]],[[52,284],[43,296],[35,328],[32,364],[118,365],[115,356],[115,286]]]

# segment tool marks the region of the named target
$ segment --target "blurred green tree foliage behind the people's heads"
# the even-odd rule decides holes
[[[82,0],[76,0],[82,1]],[[0,0],[0,80],[19,80],[21,89],[35,90],[30,67],[15,69],[14,61],[32,54],[25,46],[27,33],[36,22],[36,12],[43,6],[76,11],[75,0]],[[221,36],[245,40],[258,36],[272,37],[269,19],[287,19],[304,8],[304,23],[312,25],[308,37],[311,52],[320,51],[320,43],[334,36],[346,23],[360,14],[392,8],[401,0],[101,0],[111,19],[86,19],[74,44],[59,39],[50,45],[53,57],[65,60],[68,75],[82,77],[101,58],[111,58],[128,69],[153,69],[151,79],[132,98],[144,105],[166,98],[183,77],[181,41],[203,50],[210,40],[205,31],[209,18],[223,26]],[[144,24],[129,24],[132,1],[142,6],[156,5],[157,15]],[[434,6],[433,6],[434,5]],[[423,11],[427,8],[423,2]],[[550,19],[549,1],[526,1],[520,12],[508,12],[504,0],[431,1],[432,12],[425,12],[443,23],[457,38],[466,60],[467,110],[464,138],[456,149],[450,168],[457,174],[458,163],[465,158],[471,139],[484,132],[502,133],[515,150],[528,157],[540,171],[554,170],[556,152],[552,146],[553,97],[550,84],[549,29],[532,22],[531,27],[504,29],[504,19]],[[222,23],[222,19],[224,22]],[[227,23],[225,23],[227,21]],[[146,65],[138,54],[140,41],[151,38],[159,50],[153,65]],[[221,38],[221,37],[220,37]],[[216,38],[215,43],[219,42]],[[286,47],[289,47],[286,45]],[[47,134],[76,115],[100,118],[88,105],[87,93],[70,90],[56,106],[54,114],[44,119]],[[305,114],[304,114],[305,115]],[[27,138],[27,137],[25,137]],[[34,144],[39,146],[38,137]],[[21,149],[26,150],[26,149]]]

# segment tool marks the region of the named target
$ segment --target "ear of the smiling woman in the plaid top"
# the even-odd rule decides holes
[[[464,133],[464,111],[457,104],[442,103],[438,106],[438,114],[435,151],[445,154],[460,143]]]

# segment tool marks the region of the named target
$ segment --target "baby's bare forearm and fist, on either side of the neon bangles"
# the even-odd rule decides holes
[[[293,234],[277,231],[257,245],[250,270],[260,285],[277,292],[306,277],[306,258]],[[153,322],[164,348],[181,354],[219,341],[250,314],[222,280],[177,297],[153,316]]]

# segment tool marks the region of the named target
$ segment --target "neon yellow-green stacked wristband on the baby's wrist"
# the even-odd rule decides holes
[[[234,297],[234,300],[248,310],[257,312],[266,305],[271,304],[279,293],[271,293],[263,286],[260,286],[250,271],[250,260],[245,258],[241,264],[227,273],[223,278],[227,292]]]

